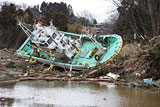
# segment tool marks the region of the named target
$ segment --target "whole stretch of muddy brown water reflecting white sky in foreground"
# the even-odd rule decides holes
[[[160,92],[110,83],[0,83],[0,107],[160,107]]]

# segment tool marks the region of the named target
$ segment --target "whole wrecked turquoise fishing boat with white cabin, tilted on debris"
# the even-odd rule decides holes
[[[73,70],[97,69],[105,66],[122,48],[119,35],[74,34],[58,31],[50,22],[44,26],[38,22],[30,31],[19,21],[19,26],[28,36],[17,50],[20,56],[31,62],[52,64]]]

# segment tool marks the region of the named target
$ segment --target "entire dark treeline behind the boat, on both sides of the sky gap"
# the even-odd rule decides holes
[[[141,35],[151,39],[160,34],[160,1],[159,0],[112,0],[117,6],[117,18],[111,17],[110,22],[104,22],[104,33],[119,34],[125,43],[140,41]],[[96,24],[89,13],[74,15],[71,5],[66,3],[46,3],[21,9],[15,4],[1,3],[0,10],[0,48],[18,48],[27,38],[17,26],[15,18],[22,19],[26,24],[35,20],[54,25],[62,31],[81,33],[82,26]],[[26,6],[27,7],[27,6]],[[107,7],[106,7],[107,9]],[[89,16],[89,17],[88,17]]]

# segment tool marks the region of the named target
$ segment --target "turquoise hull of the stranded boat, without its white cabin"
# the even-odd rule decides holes
[[[64,32],[64,35],[71,38],[79,38],[79,34]],[[55,57],[55,60],[51,59],[49,54],[46,54],[44,51],[40,50],[40,54],[43,54],[43,58],[39,56],[34,56],[34,50],[32,49],[32,42],[30,37],[22,44],[22,46],[17,50],[17,55],[36,59],[37,62],[45,64],[54,64],[54,66],[62,68],[72,68],[74,70],[89,70],[96,69],[102,66],[105,66],[110,60],[112,60],[122,48],[122,38],[119,35],[103,35],[100,37],[99,44],[106,48],[104,54],[97,61],[95,60],[95,53],[92,54],[95,44],[90,40],[89,37],[85,36],[82,38],[83,43],[80,48],[79,54],[76,54],[72,60],[65,61],[65,59],[60,59]]]

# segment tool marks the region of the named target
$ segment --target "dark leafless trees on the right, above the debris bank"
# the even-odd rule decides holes
[[[133,34],[148,38],[160,34],[160,0],[113,0],[118,7],[118,19],[113,32],[132,42]]]

